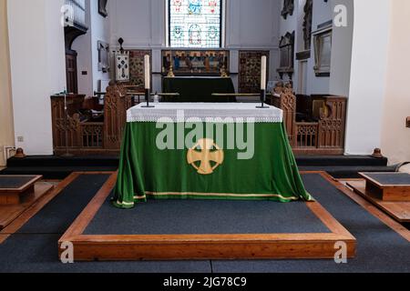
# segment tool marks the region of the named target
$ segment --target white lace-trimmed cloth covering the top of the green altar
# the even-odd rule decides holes
[[[127,122],[282,123],[283,111],[274,106],[259,109],[255,103],[157,103],[128,109]]]

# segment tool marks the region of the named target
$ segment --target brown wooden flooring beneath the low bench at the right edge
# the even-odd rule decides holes
[[[352,187],[355,193],[363,196],[364,199],[395,218],[396,221],[400,223],[410,222],[410,202],[383,201],[380,197],[376,197],[366,190],[366,182],[364,180],[350,181],[347,183],[347,186]]]

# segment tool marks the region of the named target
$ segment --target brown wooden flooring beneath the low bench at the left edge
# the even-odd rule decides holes
[[[46,182],[37,182],[35,192],[21,197],[21,204],[0,206],[0,230],[10,225],[30,206],[33,206],[42,196],[45,196],[54,186]]]

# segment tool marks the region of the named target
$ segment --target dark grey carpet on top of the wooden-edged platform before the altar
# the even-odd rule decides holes
[[[118,218],[120,217],[120,218]],[[106,201],[86,235],[306,234],[330,230],[302,202],[149,200],[123,210]]]

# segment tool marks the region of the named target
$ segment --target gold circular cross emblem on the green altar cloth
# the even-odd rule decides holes
[[[203,138],[188,150],[187,160],[200,175],[210,175],[223,163],[224,154],[220,146],[210,138]]]

